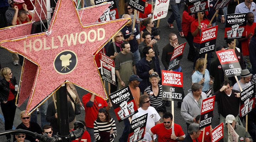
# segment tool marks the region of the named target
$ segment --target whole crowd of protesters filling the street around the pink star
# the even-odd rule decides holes
[[[82,5],[90,6],[92,1],[81,2]],[[154,10],[151,9],[149,0],[145,1],[145,13],[134,17],[134,9],[124,0],[119,1],[119,14],[122,18],[132,18],[136,20],[134,31],[132,31],[132,21],[127,23],[114,36],[114,41],[108,44],[106,55],[115,61],[115,73],[117,86],[111,85],[111,93],[129,86],[132,92],[134,102],[138,108],[138,113],[132,116],[132,120],[148,113],[146,131],[144,138],[147,141],[167,142],[167,141],[185,141],[185,142],[210,142],[210,133],[212,128],[206,127],[205,135],[199,129],[199,118],[201,113],[202,100],[206,98],[206,92],[213,85],[213,92],[218,102],[219,123],[224,122],[224,138],[222,141],[228,142],[228,123],[240,136],[240,141],[253,142],[256,140],[256,109],[249,113],[248,132],[242,124],[245,120],[239,116],[240,92],[234,77],[226,77],[218,59],[211,61],[211,54],[207,56],[207,67],[204,68],[204,55],[199,55],[200,31],[214,26],[216,21],[225,23],[226,13],[247,13],[247,35],[238,40],[237,47],[234,48],[234,40],[226,40],[227,46],[218,47],[218,50],[235,49],[241,66],[239,83],[242,89],[246,89],[256,82],[256,5],[252,0],[245,0],[238,4],[237,0],[231,0],[230,6],[219,10],[219,17],[214,17],[210,24],[214,10],[209,12],[200,12],[197,15],[188,15],[187,1],[171,0],[170,6],[172,14],[168,19],[170,29],[175,28],[173,22],[176,21],[178,36],[185,37],[189,45],[188,61],[193,62],[192,85],[189,93],[183,99],[178,107],[181,108],[181,116],[186,121],[187,128],[182,128],[174,124],[175,132],[172,133],[173,115],[166,107],[170,107],[169,101],[162,100],[161,68],[160,61],[164,65],[164,70],[169,67],[170,59],[175,48],[180,45],[178,36],[170,33],[168,43],[162,50],[159,50],[158,42],[160,40],[160,28],[156,28],[156,23],[152,20]],[[185,9],[180,15],[180,5],[185,2]],[[22,24],[31,21],[33,13],[23,4],[23,0],[6,0],[0,4],[2,13],[1,27]],[[93,2],[92,2],[93,3]],[[214,5],[215,0],[210,0]],[[82,6],[83,7],[83,6]],[[212,9],[212,7],[210,7]],[[200,20],[201,25],[198,25]],[[163,39],[163,37],[161,37]],[[116,49],[115,49],[116,48]],[[160,53],[161,60],[160,60]],[[185,55],[183,55],[185,56]],[[18,56],[12,55],[14,65],[18,65]],[[1,66],[0,66],[1,67]],[[181,66],[177,66],[173,71],[182,72]],[[5,130],[11,130],[16,112],[15,98],[17,95],[17,81],[8,67],[2,67],[0,74],[0,102],[1,110],[5,119]],[[74,103],[78,103],[85,108],[85,121],[80,121],[85,125],[85,132],[81,138],[74,142],[113,142],[117,135],[120,135],[119,142],[127,142],[130,128],[129,119],[124,120],[123,132],[117,132],[116,122],[110,116],[109,111],[112,108],[111,102],[107,102],[93,93],[85,94],[79,99],[73,84],[67,83],[69,129],[75,130],[76,121]],[[28,115],[21,111],[21,124],[16,129],[29,130],[37,133],[46,133],[48,137],[57,135],[59,132],[58,114],[54,100],[49,105],[47,101],[40,107],[41,126],[38,125],[36,114]],[[124,104],[125,105],[125,104]],[[126,104],[127,105],[127,104]],[[58,109],[58,108],[57,108]],[[188,133],[183,130],[187,129]],[[241,139],[244,138],[244,139]],[[11,135],[6,135],[6,142],[11,142]],[[16,133],[13,136],[16,142],[36,142],[25,133]]]

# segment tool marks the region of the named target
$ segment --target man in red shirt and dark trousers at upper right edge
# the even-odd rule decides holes
[[[247,24],[246,24],[246,37],[238,39],[241,42],[242,54],[244,56],[246,68],[251,72],[251,62],[249,58],[249,43],[251,37],[254,33],[254,28],[256,27],[256,23],[254,23],[254,14],[252,12],[247,13]]]

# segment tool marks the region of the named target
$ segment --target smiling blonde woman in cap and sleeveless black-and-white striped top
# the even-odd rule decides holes
[[[162,103],[162,85],[158,84],[159,81],[160,77],[158,73],[151,73],[149,76],[149,82],[151,82],[151,85],[145,89],[144,94],[149,95],[150,106],[156,109],[161,117],[160,122],[162,122],[162,116],[166,112],[166,108]]]

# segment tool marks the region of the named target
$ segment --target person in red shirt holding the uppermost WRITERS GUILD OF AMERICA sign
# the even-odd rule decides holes
[[[200,12],[200,21],[201,21],[201,25],[198,26],[198,18],[197,18],[197,15],[195,15],[195,20],[191,23],[191,34],[194,37],[193,44],[196,51],[193,69],[196,65],[196,60],[201,56],[204,57],[204,55],[199,56],[201,30],[211,27],[211,24],[209,24],[210,21],[207,19],[206,14],[204,12]],[[208,65],[210,65],[210,54],[207,54],[207,63]],[[207,69],[208,69],[208,65],[207,65]]]

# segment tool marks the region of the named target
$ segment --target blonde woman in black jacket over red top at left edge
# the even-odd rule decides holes
[[[3,77],[0,80],[0,102],[1,109],[5,119],[5,131],[11,130],[14,122],[14,116],[16,111],[15,97],[17,95],[18,86],[16,78],[12,78],[11,69],[4,67],[0,71]],[[15,89],[16,86],[16,89]],[[6,135],[7,142],[11,142],[11,135]]]

